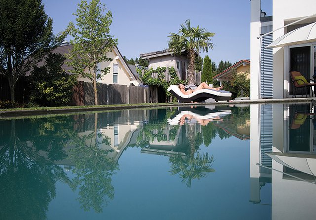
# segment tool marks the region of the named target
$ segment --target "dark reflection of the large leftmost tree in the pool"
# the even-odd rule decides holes
[[[46,219],[56,182],[69,179],[47,153],[16,132],[15,122],[0,142],[0,219]]]

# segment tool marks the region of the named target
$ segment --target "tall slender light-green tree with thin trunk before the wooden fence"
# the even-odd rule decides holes
[[[68,26],[70,35],[74,37],[70,43],[73,48],[67,57],[69,66],[74,68],[73,73],[88,78],[93,83],[94,104],[98,105],[97,80],[110,72],[110,68],[101,69],[98,64],[111,61],[107,53],[116,45],[117,40],[110,35],[112,13],[107,11],[105,4],[100,0],[92,0],[89,4],[81,0],[78,4],[76,26],[71,22]],[[100,73],[98,73],[100,72]],[[98,74],[97,74],[98,73]]]

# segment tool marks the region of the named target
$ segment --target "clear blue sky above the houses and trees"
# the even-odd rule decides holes
[[[43,0],[46,14],[53,19],[54,33],[75,21],[80,0]],[[250,0],[101,0],[112,11],[111,34],[127,58],[163,50],[168,35],[177,32],[186,19],[191,25],[214,32],[213,50],[201,53],[218,64],[250,58]],[[272,15],[272,0],[262,0],[261,8]],[[69,37],[67,40],[69,41]]]

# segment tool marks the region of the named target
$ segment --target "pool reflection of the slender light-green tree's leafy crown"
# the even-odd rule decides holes
[[[81,208],[102,212],[103,206],[114,198],[111,178],[118,170],[118,164],[107,156],[113,150],[100,148],[101,145],[110,145],[111,140],[102,133],[91,132],[77,136],[73,142],[75,147],[70,150],[69,158],[75,163],[72,172],[76,176],[72,179],[71,187],[73,190],[79,189]]]

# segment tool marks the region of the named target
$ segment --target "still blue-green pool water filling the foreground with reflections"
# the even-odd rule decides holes
[[[314,219],[313,112],[205,105],[2,119],[0,219]]]

